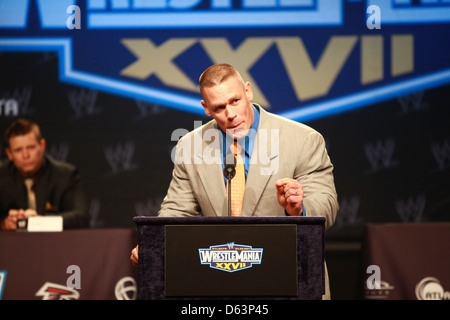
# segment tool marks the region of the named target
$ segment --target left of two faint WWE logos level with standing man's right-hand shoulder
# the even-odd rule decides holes
[[[365,144],[364,153],[370,163],[372,172],[396,166],[397,161],[392,159],[394,150],[394,139],[378,140],[375,144]]]

